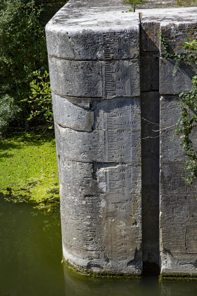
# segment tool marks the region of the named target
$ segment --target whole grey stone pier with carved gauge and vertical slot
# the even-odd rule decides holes
[[[159,33],[184,54],[197,8],[155,4],[70,0],[46,26],[63,255],[80,270],[197,273],[196,182],[173,131],[159,134],[194,75],[172,76]]]

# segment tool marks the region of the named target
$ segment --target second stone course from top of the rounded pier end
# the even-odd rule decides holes
[[[52,91],[61,96],[140,95],[138,60],[104,63],[49,58],[49,69]]]

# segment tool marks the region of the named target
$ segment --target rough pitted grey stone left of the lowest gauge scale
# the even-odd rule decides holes
[[[81,259],[90,255],[81,251],[102,252],[103,208],[100,197],[72,195],[62,185],[60,197],[63,244],[67,252]]]

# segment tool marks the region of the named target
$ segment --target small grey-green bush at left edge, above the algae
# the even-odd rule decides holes
[[[8,95],[0,97],[0,136],[19,111],[13,98]]]

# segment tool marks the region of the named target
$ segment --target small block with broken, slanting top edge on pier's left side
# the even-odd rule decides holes
[[[92,131],[94,112],[72,104],[64,97],[52,93],[54,120],[62,127],[77,131]]]

